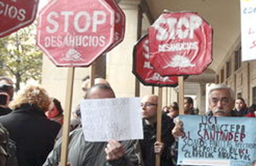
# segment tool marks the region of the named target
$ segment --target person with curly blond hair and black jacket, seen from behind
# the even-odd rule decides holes
[[[51,99],[41,86],[26,86],[10,103],[13,111],[0,117],[17,144],[19,166],[42,165],[54,146],[60,124],[47,119]]]

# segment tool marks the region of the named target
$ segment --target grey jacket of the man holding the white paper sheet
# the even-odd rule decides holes
[[[71,166],[139,166],[140,151],[136,140],[124,140],[120,143],[125,148],[125,155],[118,160],[106,160],[104,151],[108,142],[88,142],[84,140],[83,129],[70,133],[68,144],[68,162]],[[49,154],[44,166],[58,166],[60,162],[61,139]]]

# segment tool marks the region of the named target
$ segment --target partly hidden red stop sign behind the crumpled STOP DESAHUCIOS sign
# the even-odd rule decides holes
[[[161,77],[153,66],[151,66],[149,63],[150,53],[148,44],[148,35],[146,35],[141,38],[136,45],[134,45],[132,73],[134,73],[137,79],[139,79],[140,82],[146,86],[177,86],[178,77]]]

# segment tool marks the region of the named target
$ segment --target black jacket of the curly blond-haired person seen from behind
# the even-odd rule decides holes
[[[54,146],[60,124],[45,117],[35,105],[24,104],[0,117],[10,139],[17,143],[19,166],[42,165]]]

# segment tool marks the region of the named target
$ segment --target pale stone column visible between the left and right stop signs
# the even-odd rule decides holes
[[[107,73],[117,97],[133,97],[136,77],[132,74],[132,49],[138,40],[140,1],[122,0],[119,5],[126,16],[125,38],[107,54]]]

